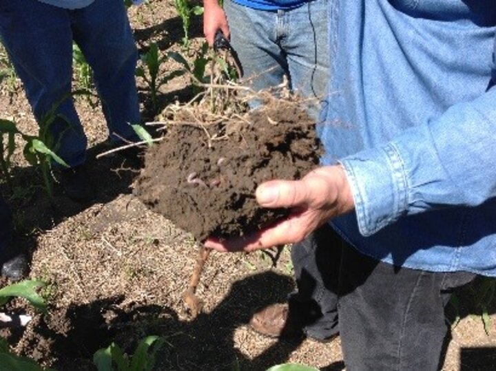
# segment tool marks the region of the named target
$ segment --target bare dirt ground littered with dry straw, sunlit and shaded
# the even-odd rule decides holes
[[[130,9],[130,17],[139,47],[155,41],[162,52],[178,50],[182,27],[172,2],[151,0]],[[201,27],[198,19],[193,23],[194,45],[199,45]],[[163,67],[174,68],[174,62]],[[187,83],[180,77],[164,85],[161,107],[190,96]],[[153,120],[145,84],[138,84],[143,118]],[[21,142],[14,156],[13,188],[3,185],[14,209],[15,245],[30,253],[30,277],[50,283],[44,290],[49,315],[34,314],[24,330],[2,330],[15,352],[57,370],[95,370],[92,354],[110,342],[132,352],[146,335],[161,335],[165,345],[158,352],[157,370],[265,370],[285,362],[344,369],[339,337],[329,343],[277,341],[247,326],[254,310],[284,301],[293,290],[289,246],[277,261],[275,251],[212,253],[197,290],[203,312],[192,319],[183,293],[196,262],[196,240],[133,195],[139,169],[118,154],[94,158],[105,150],[101,109],[83,98],[76,107],[90,139],[97,201],[81,205],[56,195],[50,204],[40,189],[39,172],[23,160]],[[14,118],[22,131],[37,132],[19,83],[17,88],[2,86],[0,112]],[[461,320],[447,343],[442,369],[496,369],[494,306],[486,335],[472,291],[457,295]],[[26,310],[21,301],[10,308]]]

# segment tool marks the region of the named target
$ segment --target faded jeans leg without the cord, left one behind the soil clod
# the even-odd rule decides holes
[[[230,0],[224,2],[224,10],[243,80],[255,92],[282,83],[288,68],[277,40],[278,12],[254,10]]]

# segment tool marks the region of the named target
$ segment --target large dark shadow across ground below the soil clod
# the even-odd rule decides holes
[[[34,336],[25,347],[39,361],[50,349],[59,359],[56,370],[94,370],[96,350],[112,341],[132,354],[139,340],[148,335],[165,339],[157,355],[157,370],[265,370],[284,363],[302,339],[276,341],[254,359],[234,344],[234,332],[249,322],[253,310],[284,301],[293,281],[271,271],[245,277],[209,313],[192,321],[179,319],[167,306],[130,304],[121,308],[124,297],[107,297],[90,304],[72,305],[50,317],[39,318]],[[326,370],[340,370],[330,365]]]

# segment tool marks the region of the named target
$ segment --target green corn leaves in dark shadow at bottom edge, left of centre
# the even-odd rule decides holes
[[[149,336],[142,339],[134,354],[128,356],[115,343],[108,348],[97,350],[93,363],[98,371],[149,371],[154,368],[156,352],[163,345],[163,339]]]

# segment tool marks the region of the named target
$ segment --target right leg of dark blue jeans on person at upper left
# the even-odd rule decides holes
[[[138,53],[122,0],[95,0],[72,12],[74,41],[93,69],[110,138],[136,141],[141,123],[135,70]]]

